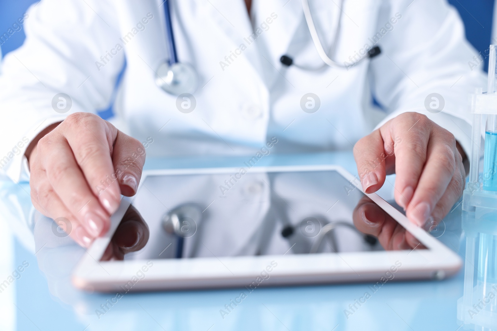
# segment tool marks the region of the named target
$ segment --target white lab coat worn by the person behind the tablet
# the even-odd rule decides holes
[[[26,41],[5,56],[0,75],[0,158],[9,158],[2,172],[19,180],[27,143],[19,144],[18,155],[11,151],[23,137],[32,139],[73,112],[106,108],[125,59],[114,120],[141,141],[154,138],[148,156],[248,154],[272,136],[280,152],[351,149],[406,111],[426,114],[470,150],[467,94],[485,78],[468,65],[476,52],[444,0],[344,0],[341,16],[335,3],[310,0],[321,41],[337,62],[372,47],[375,35],[382,50],[348,70],[317,71],[279,62],[288,54],[300,65],[323,64],[299,0],[254,0],[251,22],[242,0],[171,1],[178,58],[200,78],[197,105],[188,114],[155,84],[155,70],[167,57],[162,2],[43,0],[31,6]],[[254,31],[260,35],[249,44]],[[242,44],[243,52],[237,50]],[[228,62],[231,52],[241,54]],[[65,114],[52,108],[61,92],[73,102]],[[313,114],[300,105],[310,92],[321,101]],[[433,92],[445,100],[442,113],[425,110]],[[372,106],[372,94],[383,109]]]

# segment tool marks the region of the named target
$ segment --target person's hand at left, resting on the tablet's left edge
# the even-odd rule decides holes
[[[33,205],[69,220],[83,247],[108,230],[120,195],[136,193],[145,163],[140,141],[90,113],[68,116],[28,151]]]

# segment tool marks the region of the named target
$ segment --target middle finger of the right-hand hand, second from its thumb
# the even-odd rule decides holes
[[[431,135],[426,152],[426,164],[413,199],[406,210],[408,218],[419,226],[423,226],[430,217],[456,170],[455,139],[453,136],[447,138],[441,133]]]

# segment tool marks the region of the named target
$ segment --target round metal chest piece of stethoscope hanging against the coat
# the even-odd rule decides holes
[[[198,76],[188,64],[163,62],[156,71],[156,84],[172,95],[193,94],[197,90]]]

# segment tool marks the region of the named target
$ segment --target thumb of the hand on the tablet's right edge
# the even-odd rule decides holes
[[[385,183],[384,142],[379,130],[362,137],[354,146],[354,159],[357,173],[365,193],[378,191]]]

